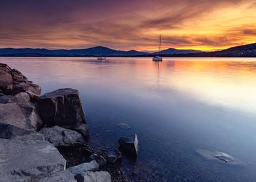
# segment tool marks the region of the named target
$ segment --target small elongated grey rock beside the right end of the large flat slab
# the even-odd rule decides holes
[[[98,168],[99,164],[96,161],[91,161],[79,164],[78,166],[67,168],[67,170],[76,176],[78,174],[82,174],[83,172],[96,171]]]

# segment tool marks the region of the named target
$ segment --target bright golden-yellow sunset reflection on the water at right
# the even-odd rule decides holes
[[[158,83],[201,101],[256,112],[255,59],[166,59],[150,62]]]

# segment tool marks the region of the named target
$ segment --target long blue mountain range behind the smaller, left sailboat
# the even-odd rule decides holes
[[[31,48],[4,48],[0,49],[0,56],[136,56],[136,55],[149,55],[150,53],[140,51],[118,51],[108,47],[90,47],[88,49],[31,49]]]

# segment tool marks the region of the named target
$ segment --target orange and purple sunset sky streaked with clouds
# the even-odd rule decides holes
[[[215,51],[256,42],[255,0],[1,0],[0,48]]]

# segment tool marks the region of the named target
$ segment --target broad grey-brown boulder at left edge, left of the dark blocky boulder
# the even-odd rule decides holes
[[[41,126],[42,120],[33,103],[0,103],[0,138],[27,135]]]

